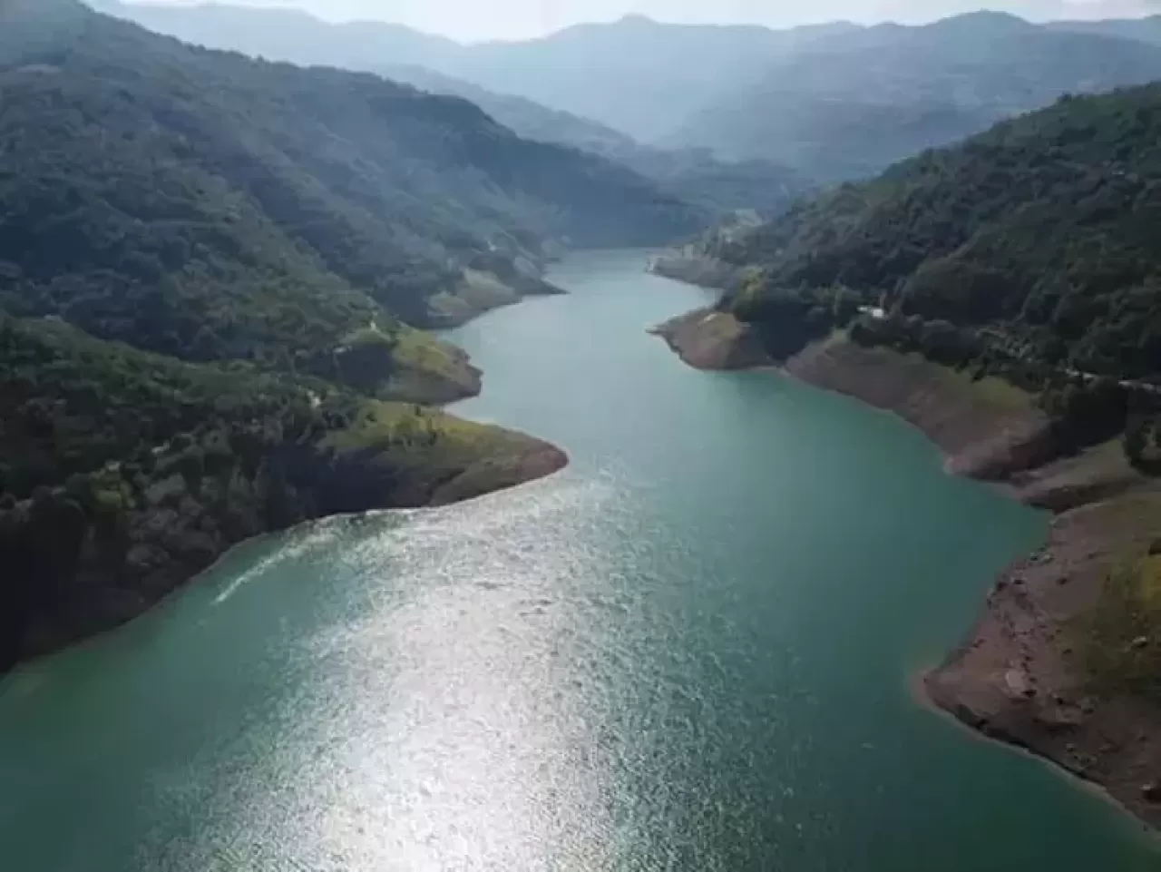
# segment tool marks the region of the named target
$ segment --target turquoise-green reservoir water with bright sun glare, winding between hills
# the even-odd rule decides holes
[[[1046,519],[894,418],[646,329],[646,254],[454,331],[457,413],[564,473],[251,542],[0,684],[0,856],[125,870],[1155,869],[1138,827],[923,709]]]

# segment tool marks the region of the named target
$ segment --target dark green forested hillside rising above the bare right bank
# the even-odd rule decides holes
[[[713,253],[744,319],[884,305],[964,362],[1161,383],[1161,85],[1067,98],[800,204]]]

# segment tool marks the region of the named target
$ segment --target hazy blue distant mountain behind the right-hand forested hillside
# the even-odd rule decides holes
[[[873,174],[923,149],[1051,103],[1161,78],[1161,49],[976,13],[839,34],[771,63],[664,144],[766,159],[827,180]]]

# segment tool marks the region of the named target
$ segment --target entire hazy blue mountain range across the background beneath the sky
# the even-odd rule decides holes
[[[802,175],[873,174],[1065,93],[1161,78],[1161,17],[1036,26],[974,13],[924,27],[770,30],[629,16],[539,39],[462,45],[296,10],[100,5],[209,46],[454,93],[521,136],[594,151],[727,208],[780,202],[805,189]],[[722,176],[735,182],[733,193],[722,192]],[[747,197],[747,189],[759,195]]]

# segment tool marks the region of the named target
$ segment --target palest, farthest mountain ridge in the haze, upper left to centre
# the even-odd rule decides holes
[[[776,31],[629,16],[540,39],[460,45],[397,24],[327,26],[290,10],[94,2],[187,42],[252,56],[369,71],[427,67],[592,118],[642,142],[672,131],[692,109],[756,80],[778,52],[858,29],[835,23]]]

